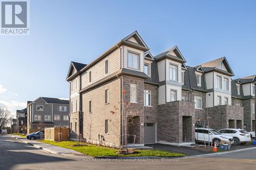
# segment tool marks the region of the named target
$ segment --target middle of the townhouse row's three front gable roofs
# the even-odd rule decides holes
[[[172,55],[172,52],[174,52],[177,56]],[[156,55],[154,58],[158,61],[158,60],[161,60],[165,57],[173,59],[173,60],[180,61],[182,63],[186,62],[185,58],[182,56],[182,54],[179,51],[179,48],[177,46],[170,47],[168,50],[166,50],[163,53],[160,53],[160,54]]]

